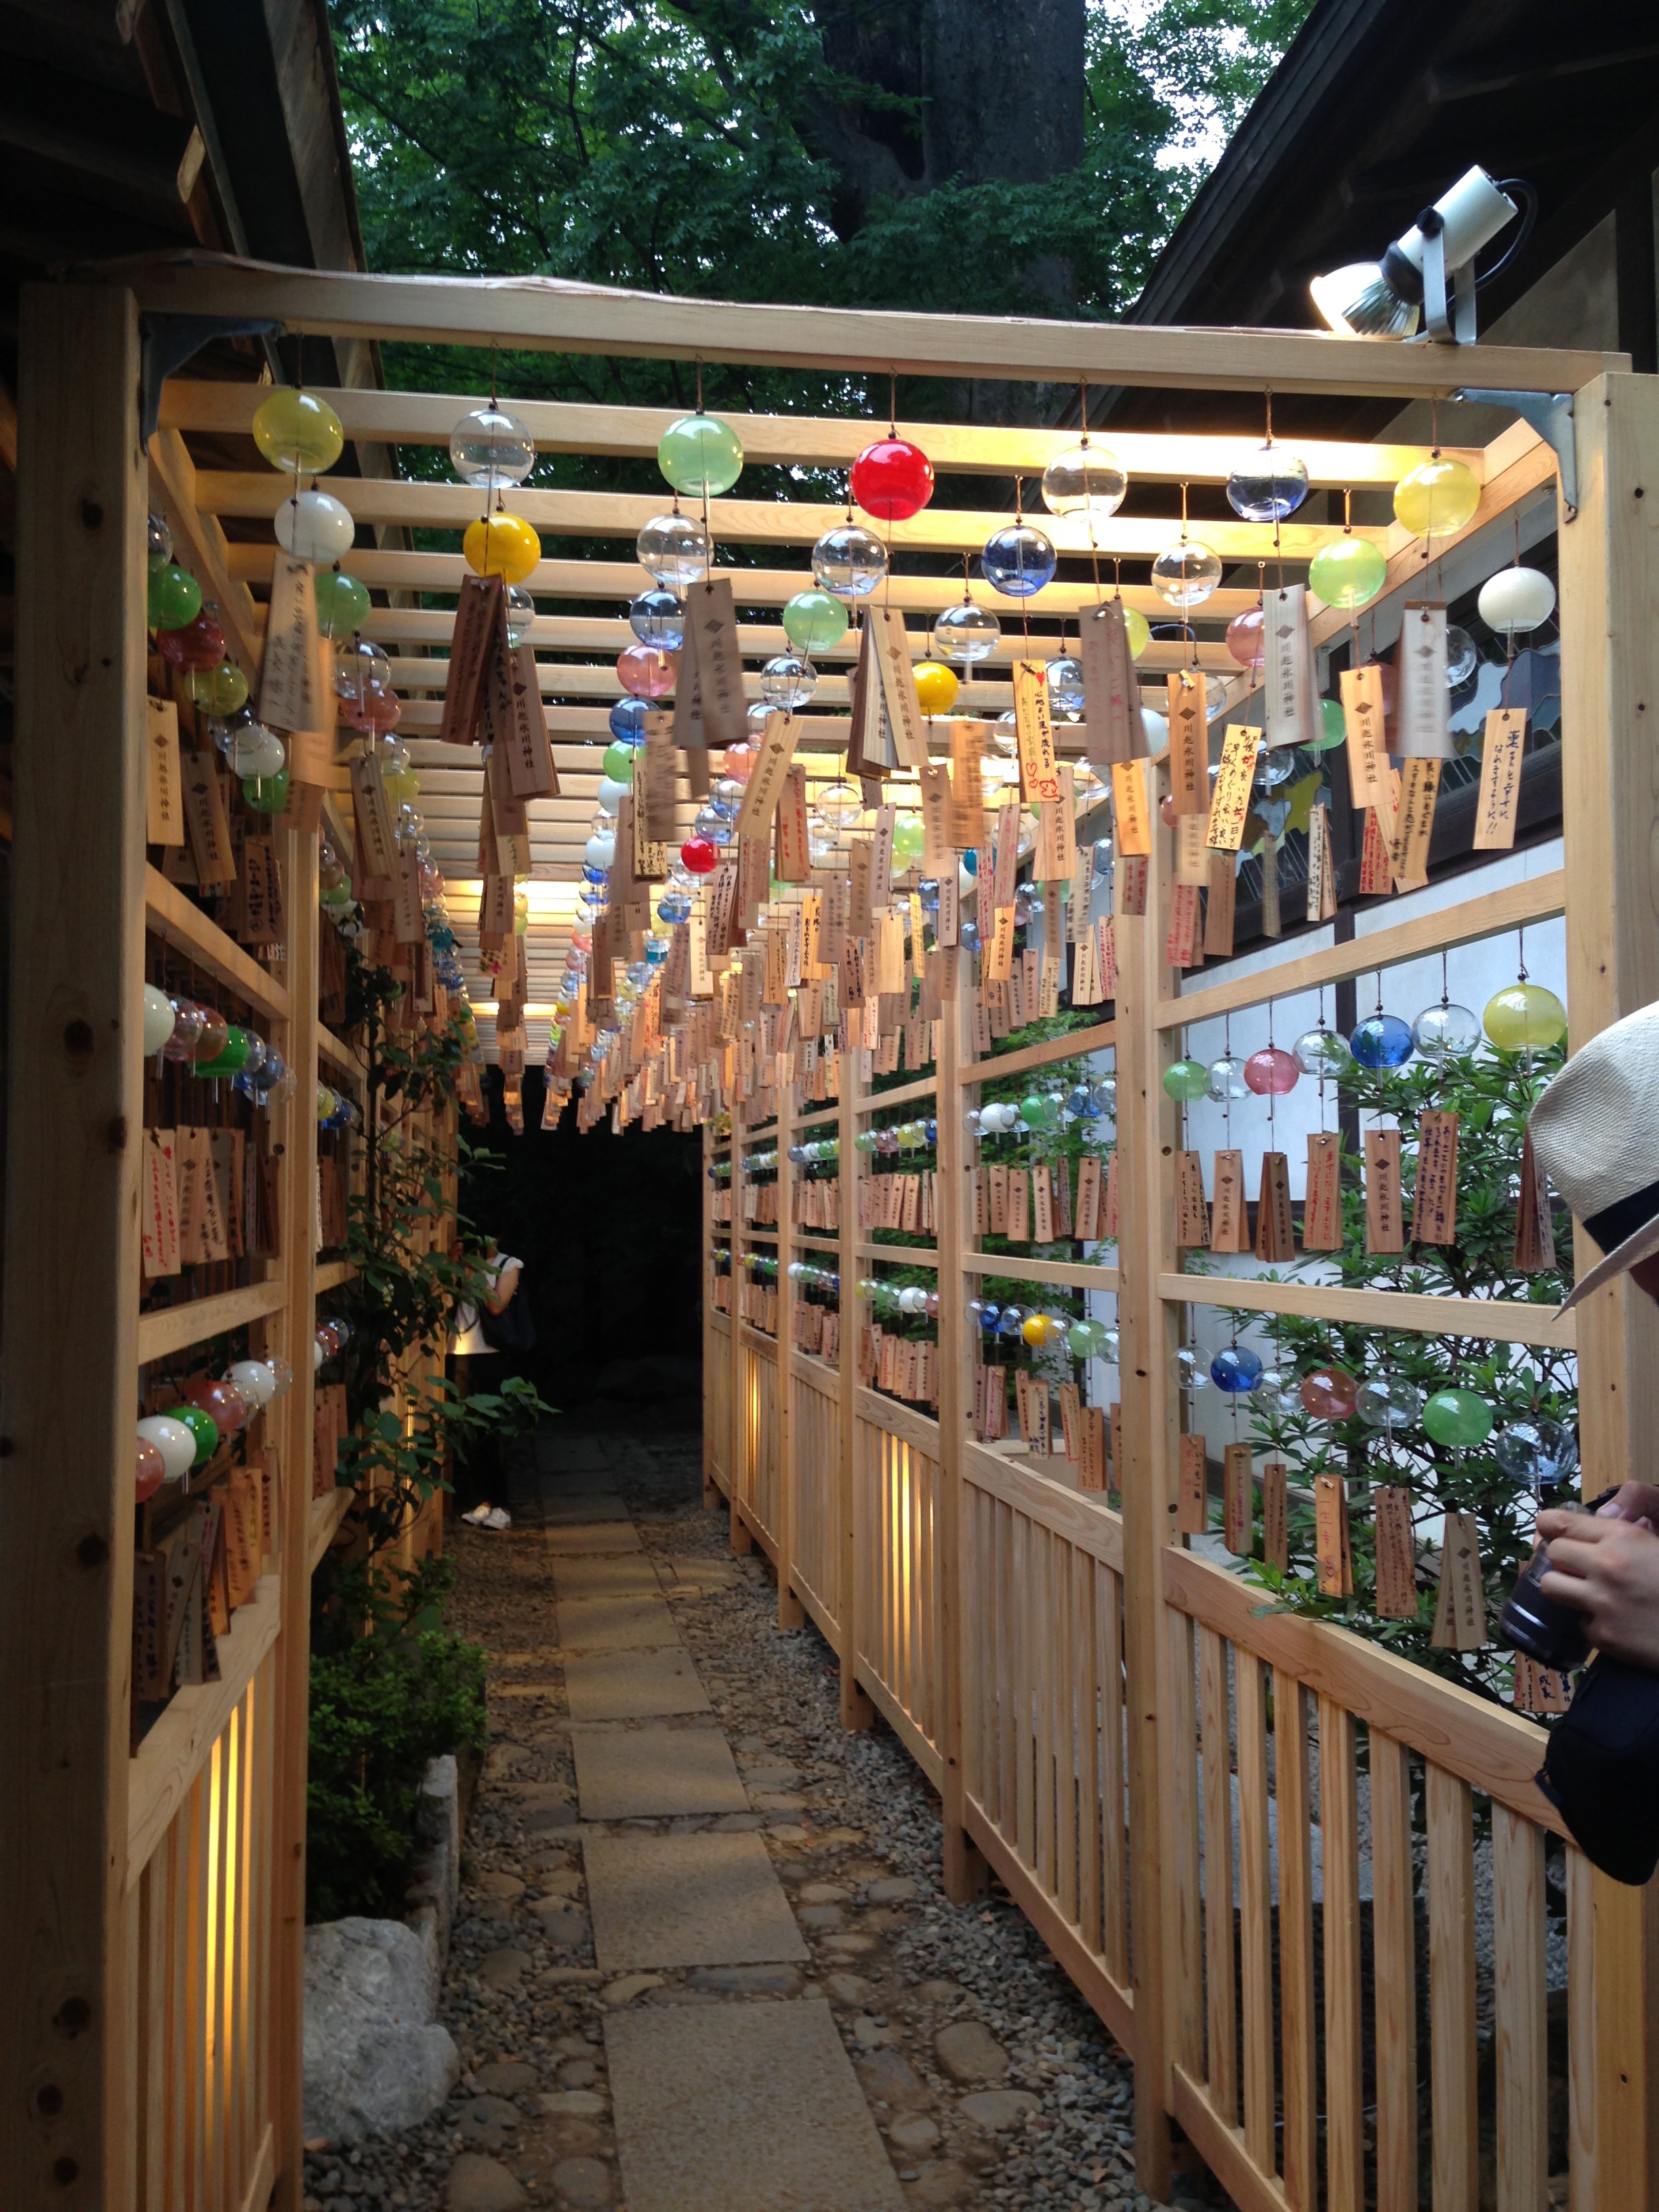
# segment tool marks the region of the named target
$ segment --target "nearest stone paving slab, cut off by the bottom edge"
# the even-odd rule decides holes
[[[902,2212],[821,1997],[611,2013],[628,2212]]]

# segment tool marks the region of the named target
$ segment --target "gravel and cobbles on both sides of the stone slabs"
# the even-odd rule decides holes
[[[1128,2059],[1011,1905],[945,1900],[938,1798],[889,1730],[841,1728],[830,1648],[814,1628],[776,1630],[763,1562],[732,1559],[726,1515],[701,1506],[697,1438],[606,1449],[754,1805],[719,1823],[626,1825],[759,1829],[812,1966],[597,1973],[551,1557],[531,1502],[507,1537],[462,1528],[451,1624],[491,1652],[491,1750],[440,2011],[462,2079],[422,2128],[316,2146],[307,2205],[617,2205],[606,2011],[818,1993],[914,2203],[1148,2212],[1130,2166]],[[1175,2203],[1225,2199],[1190,2174]]]

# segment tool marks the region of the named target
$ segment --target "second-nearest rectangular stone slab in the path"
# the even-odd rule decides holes
[[[606,1973],[810,1958],[759,1836],[591,1832],[582,1865]]]

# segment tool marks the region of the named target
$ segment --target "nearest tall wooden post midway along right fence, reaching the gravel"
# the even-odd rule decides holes
[[[1155,845],[1166,845],[1155,838]],[[1164,1093],[1166,1040],[1157,1002],[1164,964],[1168,854],[1148,860],[1146,914],[1117,916],[1117,1329],[1121,1345],[1124,1464],[1124,1666],[1128,1701],[1128,1896],[1135,1989],[1135,2179],[1148,2197],[1170,2192],[1170,2004],[1166,1991],[1159,1767],[1164,1548],[1175,1542],[1177,1398],[1170,1374],[1175,1312],[1159,1296],[1175,1265],[1175,1124]]]

